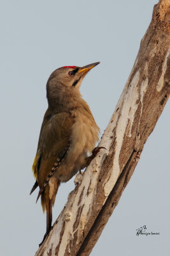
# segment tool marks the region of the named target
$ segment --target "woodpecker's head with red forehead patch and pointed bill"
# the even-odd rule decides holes
[[[83,78],[90,69],[99,63],[96,62],[83,67],[64,66],[53,71],[46,84],[48,104],[59,103],[67,96],[71,99],[74,93],[79,93]]]

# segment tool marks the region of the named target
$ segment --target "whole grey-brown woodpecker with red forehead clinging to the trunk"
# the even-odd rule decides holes
[[[58,68],[46,83],[48,109],[32,165],[36,182],[31,189],[32,193],[39,186],[38,198],[41,196],[43,212],[46,211],[44,239],[52,228],[52,206],[60,182],[67,182],[89,165],[100,149],[94,148],[99,140],[99,127],[80,94],[83,78],[99,63]]]

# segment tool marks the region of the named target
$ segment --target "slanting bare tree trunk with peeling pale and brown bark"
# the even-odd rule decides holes
[[[110,123],[102,149],[55,221],[36,256],[87,256],[131,179],[148,136],[169,97],[170,1],[160,0]]]

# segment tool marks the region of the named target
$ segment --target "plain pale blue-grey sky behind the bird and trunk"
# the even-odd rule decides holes
[[[1,247],[2,256],[30,256],[45,234],[46,216],[31,172],[55,68],[101,61],[81,93],[103,133],[138,53],[156,0],[2,1],[1,19]],[[169,110],[148,139],[119,204],[90,255],[168,255]],[[74,189],[59,188],[53,221]],[[146,225],[159,236],[136,236]]]

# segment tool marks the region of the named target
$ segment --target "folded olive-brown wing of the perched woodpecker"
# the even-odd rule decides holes
[[[32,166],[36,183],[31,193],[38,185],[42,188],[52,171],[53,164],[59,162],[66,154],[73,124],[74,118],[71,113],[50,115],[50,112],[46,111],[39,134],[38,150]]]

